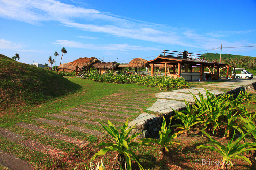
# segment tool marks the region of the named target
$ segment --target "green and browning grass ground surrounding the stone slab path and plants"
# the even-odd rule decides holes
[[[141,112],[153,113],[151,111],[146,111],[146,108],[151,106],[157,98],[154,97],[154,94],[159,91],[156,88],[148,88],[145,86],[139,86],[137,84],[111,84],[111,83],[98,83],[92,80],[82,79],[82,78],[71,78],[66,77],[67,80],[71,81],[74,84],[81,86],[82,88],[75,91],[73,94],[67,94],[61,97],[56,97],[50,99],[48,102],[39,104],[39,105],[31,105],[30,107],[26,106],[25,110],[17,111],[15,108],[11,108],[9,111],[5,111],[2,113],[0,117],[1,127],[11,130],[14,133],[23,135],[26,139],[33,140],[36,142],[40,142],[43,145],[51,146],[59,151],[64,152],[65,154],[61,157],[53,157],[52,155],[30,150],[27,147],[20,145],[16,142],[10,142],[8,139],[4,137],[0,137],[0,149],[7,151],[8,153],[12,153],[17,157],[28,161],[33,165],[36,169],[88,169],[88,163],[91,157],[99,151],[100,147],[93,147],[101,142],[109,142],[112,139],[108,135],[104,135],[101,137],[96,137],[94,135],[90,135],[87,133],[82,133],[78,131],[73,131],[67,128],[67,126],[79,126],[84,127],[91,130],[97,130],[103,132],[104,129],[101,126],[90,125],[85,123],[79,123],[77,121],[69,121],[60,118],[54,118],[47,116],[49,114],[59,114],[66,115],[61,113],[63,110],[70,110],[71,108],[82,108],[80,105],[85,105],[86,103],[101,103],[101,100],[109,100],[109,96],[113,97],[113,99],[117,100],[117,104],[113,104],[109,107],[104,107],[104,110],[98,109],[99,111],[108,111],[113,107],[120,105],[120,102],[127,103],[126,99],[120,98],[120,95],[117,95],[118,91],[128,92],[131,95],[121,95],[121,96],[131,96],[131,98],[144,98],[143,101],[147,102],[147,104],[143,104],[143,110],[139,110],[139,113],[127,113],[127,112],[118,112],[120,114],[130,114],[131,117],[128,118],[128,121],[133,120],[138,116]],[[192,87],[203,87],[205,84],[210,84],[214,82],[192,82]],[[143,92],[139,92],[139,90],[146,90],[147,95],[143,95]],[[225,90],[225,89],[223,89]],[[121,94],[121,93],[120,93]],[[252,94],[251,97],[256,96]],[[112,101],[110,101],[112,102]],[[114,103],[114,102],[112,102]],[[129,103],[128,103],[129,104]],[[138,102],[133,102],[132,104],[138,104]],[[99,106],[101,107],[101,106]],[[255,111],[254,105],[248,107],[249,110]],[[87,108],[91,109],[91,108]],[[124,108],[123,108],[124,109]],[[136,109],[125,108],[125,110],[135,111]],[[138,110],[137,110],[138,111]],[[113,115],[105,115],[101,113],[91,113],[91,112],[83,112],[81,113],[87,115],[100,115],[100,116],[108,116],[109,118],[119,118],[125,119],[118,116]],[[79,115],[68,115],[72,118],[77,119],[86,119],[93,122],[97,122],[97,119],[93,118],[85,118]],[[63,122],[65,125],[63,126],[52,126],[48,123],[38,122],[33,120],[35,118],[47,118],[49,120],[56,120],[58,122]],[[35,131],[25,129],[23,127],[19,127],[15,125],[15,123],[25,122],[28,124],[33,124],[38,127],[45,128],[50,131],[58,132],[61,134],[65,134],[68,137],[74,137],[76,139],[80,139],[82,141],[90,142],[88,145],[84,147],[78,147],[77,145],[65,142],[53,137],[42,135],[42,133],[36,133]],[[106,123],[106,120],[102,120],[103,123]],[[113,124],[118,126],[117,128],[120,130],[120,125],[122,122],[112,121]],[[222,136],[215,137],[217,141],[222,143],[227,143],[226,139],[222,139]],[[171,146],[170,152],[166,155],[162,155],[159,152],[159,147],[146,147],[146,146],[136,146],[132,148],[132,151],[136,153],[140,162],[144,168],[157,169],[162,166],[161,169],[214,169],[215,165],[202,165],[195,164],[195,159],[198,159],[202,162],[203,159],[210,161],[219,161],[221,160],[220,155],[213,153],[209,150],[199,150],[196,149],[196,146],[199,145],[211,145],[207,142],[206,137],[202,137],[198,131],[194,131],[191,137],[186,137],[185,135],[181,135],[175,141],[180,142],[183,146]],[[102,161],[104,162],[106,169],[110,169],[113,163],[113,158],[116,153],[108,153],[104,157],[102,157]],[[94,162],[100,162],[100,158],[97,158]],[[139,169],[135,162],[132,164],[133,169]],[[252,169],[254,166],[248,166],[245,162],[235,160],[235,166],[232,169]],[[4,169],[4,167],[0,167]]]

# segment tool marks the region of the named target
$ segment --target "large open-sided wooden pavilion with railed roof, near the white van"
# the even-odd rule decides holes
[[[188,51],[169,51],[163,50],[163,54],[159,55],[156,59],[148,61],[146,63],[151,64],[151,76],[154,74],[155,64],[165,65],[165,76],[167,76],[167,68],[177,67],[177,74],[175,69],[168,76],[180,77],[182,76],[185,80],[204,80],[204,79],[219,79],[219,70],[227,70],[226,78],[231,76],[231,69],[233,66],[229,66],[219,62],[208,62],[204,59],[200,59],[201,54],[193,54]],[[171,65],[171,66],[167,66]],[[185,66],[185,72],[181,73],[181,65]],[[192,72],[192,67],[199,67],[199,72]],[[204,68],[208,68],[209,72],[204,73]],[[225,69],[226,68],[226,69]],[[212,71],[211,71],[212,69]],[[222,72],[223,75],[223,72]]]

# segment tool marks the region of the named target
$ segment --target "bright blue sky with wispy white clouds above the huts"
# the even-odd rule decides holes
[[[57,65],[79,57],[128,63],[162,50],[256,45],[256,0],[0,0],[0,54]],[[220,52],[220,49],[205,51]],[[203,54],[204,52],[198,52]],[[256,57],[256,47],[222,53]],[[54,64],[55,65],[55,64]]]

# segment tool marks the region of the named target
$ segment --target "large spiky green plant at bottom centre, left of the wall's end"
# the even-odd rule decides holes
[[[98,120],[99,121],[99,120]],[[132,131],[132,129],[135,128],[135,125],[133,127],[128,127],[128,120],[124,123],[124,125],[121,128],[121,133],[118,132],[116,127],[108,120],[108,126],[102,124],[100,121],[99,123],[103,126],[103,128],[110,134],[114,140],[115,143],[109,142],[109,143],[99,143],[97,146],[106,146],[102,150],[100,150],[98,153],[94,154],[93,158],[91,158],[91,161],[96,159],[98,156],[103,156],[107,152],[116,151],[117,155],[114,159],[114,164],[112,168],[114,169],[120,169],[120,166],[124,170],[131,170],[131,157],[135,160],[136,163],[138,163],[139,168],[143,169],[143,167],[139,163],[138,157],[133,153],[131,150],[129,150],[132,146],[138,146],[138,145],[145,145],[145,146],[153,146],[148,143],[137,143],[137,142],[131,142],[132,139],[135,139],[138,135],[141,133],[133,134],[131,137],[128,138],[129,133]]]

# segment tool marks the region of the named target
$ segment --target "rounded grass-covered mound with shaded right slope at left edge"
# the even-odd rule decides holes
[[[79,88],[56,72],[0,54],[0,111],[41,103]]]

